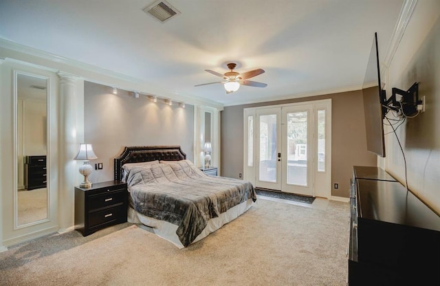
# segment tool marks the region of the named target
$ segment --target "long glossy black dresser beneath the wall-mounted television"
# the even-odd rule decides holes
[[[353,168],[349,285],[440,285],[440,217],[391,175]]]

